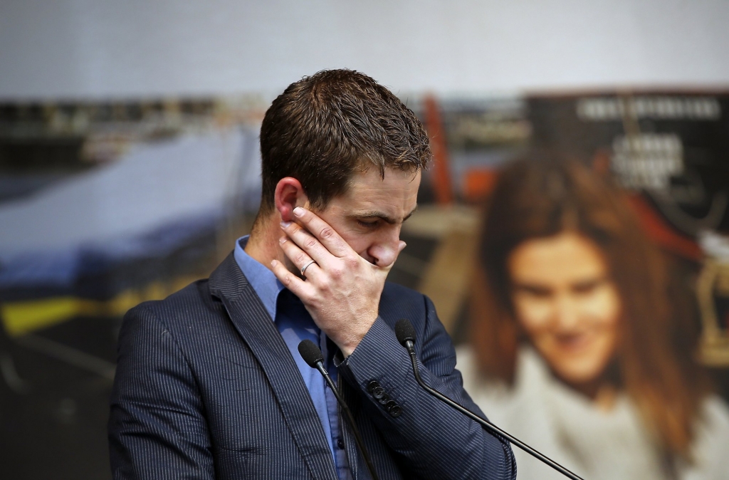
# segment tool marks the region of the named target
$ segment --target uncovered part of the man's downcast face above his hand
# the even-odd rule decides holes
[[[346,193],[317,214],[370,263],[389,266],[397,258],[400,228],[418,202],[421,174],[370,168],[356,171]]]

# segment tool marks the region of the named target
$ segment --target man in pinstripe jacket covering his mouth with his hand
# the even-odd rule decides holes
[[[428,298],[386,284],[430,150],[417,117],[355,71],[286,88],[260,135],[262,204],[211,275],[129,311],[109,439],[115,479],[367,479],[321,346],[381,479],[511,479],[509,444],[432,398],[392,330],[413,322],[424,379],[470,409]]]

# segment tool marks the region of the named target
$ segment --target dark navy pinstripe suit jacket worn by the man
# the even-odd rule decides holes
[[[386,284],[340,389],[383,479],[512,479],[509,444],[422,391],[394,336],[413,322],[426,382],[478,411],[428,298]],[[397,418],[367,384],[402,407]],[[109,419],[114,479],[327,479],[332,454],[283,338],[230,255],[210,279],[125,317]],[[355,479],[367,469],[343,425]]]

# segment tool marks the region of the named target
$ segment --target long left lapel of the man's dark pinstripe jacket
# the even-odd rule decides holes
[[[337,479],[332,452],[297,365],[233,254],[210,276],[233,325],[261,365],[301,456],[315,479]]]

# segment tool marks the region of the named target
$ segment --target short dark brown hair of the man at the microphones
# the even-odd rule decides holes
[[[324,70],[289,85],[261,125],[261,212],[294,177],[315,209],[346,191],[356,168],[418,171],[431,158],[418,117],[390,90],[353,70]]]

